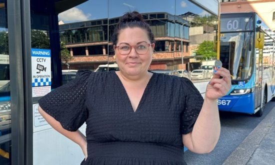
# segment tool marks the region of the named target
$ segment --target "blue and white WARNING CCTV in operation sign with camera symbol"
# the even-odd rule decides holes
[[[50,49],[31,48],[32,96],[50,91]]]

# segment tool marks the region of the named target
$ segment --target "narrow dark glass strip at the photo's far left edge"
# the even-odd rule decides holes
[[[11,109],[6,0],[0,0],[0,164],[11,164]]]

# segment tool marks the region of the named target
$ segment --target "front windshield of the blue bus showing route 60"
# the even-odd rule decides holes
[[[246,80],[252,75],[253,32],[220,34],[220,60],[230,71],[232,80]]]

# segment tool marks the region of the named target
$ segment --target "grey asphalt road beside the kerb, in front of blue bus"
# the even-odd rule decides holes
[[[214,150],[206,154],[187,150],[184,152],[184,160],[187,164],[222,164],[274,106],[275,102],[268,102],[261,117],[220,112],[221,132]]]

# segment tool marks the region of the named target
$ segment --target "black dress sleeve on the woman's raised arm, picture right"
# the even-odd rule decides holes
[[[203,97],[188,78],[182,77],[182,85],[185,99],[184,109],[181,113],[180,131],[182,134],[187,134],[193,129],[202,107]]]

